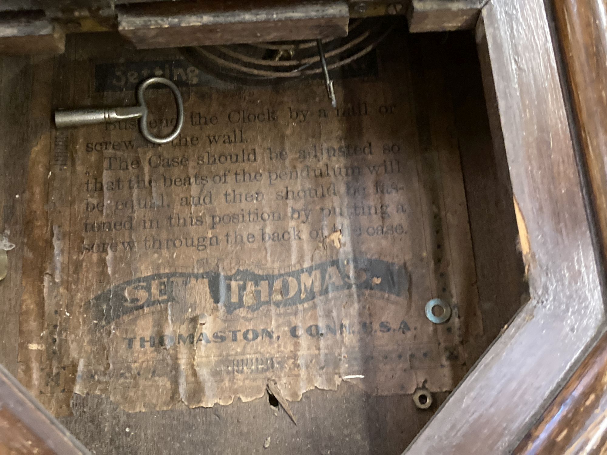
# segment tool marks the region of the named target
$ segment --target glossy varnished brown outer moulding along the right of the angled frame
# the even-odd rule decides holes
[[[574,123],[603,251],[607,240],[607,19],[602,0],[554,0]],[[607,335],[603,335],[516,453],[605,453]]]

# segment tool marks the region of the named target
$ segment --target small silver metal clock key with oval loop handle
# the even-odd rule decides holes
[[[163,84],[169,87],[177,104],[177,122],[172,133],[163,138],[152,135],[148,129],[148,106],[143,98],[143,93],[152,84]],[[137,89],[137,101],[139,106],[112,107],[107,109],[75,109],[56,110],[55,125],[58,128],[106,123],[110,121],[127,120],[129,118],[139,119],[139,129],[144,138],[154,144],[166,144],[174,140],[183,127],[183,99],[181,93],[174,83],[169,79],[153,77],[146,79]]]

